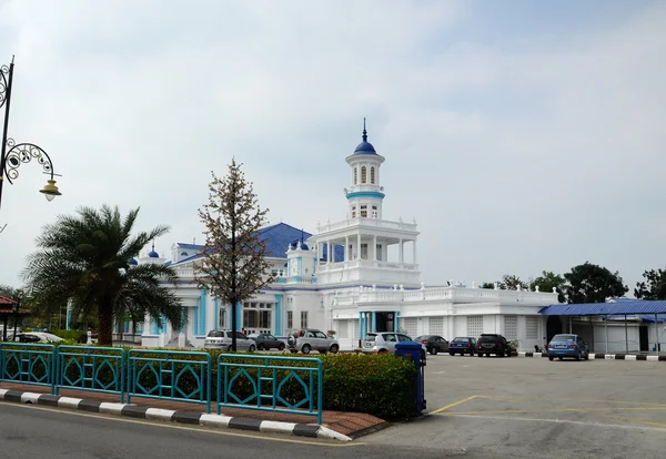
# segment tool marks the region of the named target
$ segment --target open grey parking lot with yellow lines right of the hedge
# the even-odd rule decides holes
[[[666,455],[666,363],[428,356],[426,416],[365,437],[435,457]]]

